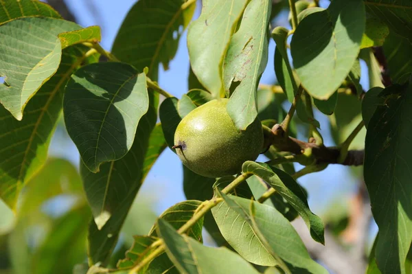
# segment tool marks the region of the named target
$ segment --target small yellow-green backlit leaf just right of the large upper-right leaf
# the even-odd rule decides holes
[[[367,18],[365,33],[362,36],[361,49],[383,45],[389,35],[389,27],[378,18]]]

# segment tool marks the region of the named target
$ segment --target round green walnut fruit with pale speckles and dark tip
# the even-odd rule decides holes
[[[242,163],[255,160],[262,150],[262,124],[258,118],[238,130],[226,111],[228,99],[207,102],[191,111],[174,133],[174,148],[184,165],[206,177],[240,172]]]

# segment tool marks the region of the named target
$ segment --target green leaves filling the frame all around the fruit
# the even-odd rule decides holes
[[[36,0],[0,1],[0,198],[26,226],[33,225],[30,214],[48,198],[78,199],[58,222],[47,221],[49,233],[32,259],[33,273],[60,273],[62,262],[81,262],[86,250],[88,266],[76,266],[77,273],[328,273],[310,258],[290,224],[300,216],[313,240],[324,244],[323,222],[310,211],[293,165],[253,161],[244,163],[237,178],[216,180],[183,167],[188,200],[166,210],[148,235],[135,236],[126,258],[106,268],[146,174],[167,146],[173,150],[176,126],[197,106],[220,97],[229,98],[227,111],[240,130],[255,117],[267,125],[282,121],[282,103],[288,100],[321,144],[313,103],[330,117],[337,144],[345,150],[365,147],[365,183],[379,227],[368,273],[411,268],[412,61],[405,58],[412,49],[412,3],[333,0],[324,9],[318,1],[289,2],[293,30],[271,31],[282,3],[203,0],[201,16],[192,21],[194,0],[140,0],[109,53],[98,43],[99,27],[65,21]],[[168,69],[187,27],[190,91],[178,100],[155,81],[159,64]],[[275,87],[258,89],[273,58],[270,38],[276,43],[274,73],[286,96]],[[387,56],[387,87],[373,47],[382,47]],[[101,54],[111,62],[99,62]],[[360,59],[369,71],[366,93],[359,84]],[[160,106],[159,93],[167,97]],[[61,112],[80,152],[80,176],[66,161],[47,161]],[[362,121],[366,137],[363,129],[352,144],[345,142]],[[271,148],[266,156],[277,159],[279,151]],[[236,192],[229,195],[235,183]],[[260,200],[269,188],[275,194]],[[205,247],[203,227],[227,247]],[[16,247],[23,233],[14,231]],[[58,242],[67,239],[65,233],[76,235],[76,241]],[[65,257],[68,247],[83,253]],[[41,263],[45,254],[57,252],[65,260]]]

